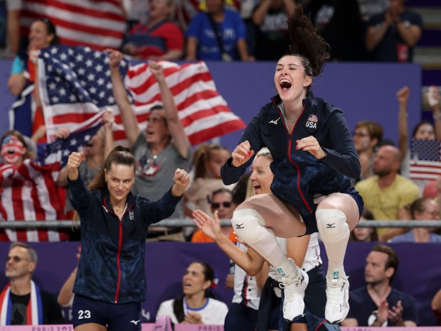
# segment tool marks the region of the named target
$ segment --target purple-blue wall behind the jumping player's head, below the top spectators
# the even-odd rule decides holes
[[[275,94],[275,63],[207,63],[216,87],[230,108],[245,123]],[[14,100],[7,89],[11,60],[0,60],[0,133],[8,127],[7,111]],[[421,68],[415,64],[328,63],[312,91],[343,109],[350,129],[362,119],[378,121],[385,137],[398,139],[398,102],[395,93],[408,85],[409,128],[420,120]],[[223,136],[221,143],[233,150],[241,131]]]

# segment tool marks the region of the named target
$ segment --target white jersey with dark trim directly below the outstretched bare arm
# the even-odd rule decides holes
[[[248,251],[247,246],[237,243],[243,251]],[[234,266],[234,296],[233,303],[240,303],[257,310],[260,302],[260,289],[257,286],[256,278],[248,274],[237,264]]]

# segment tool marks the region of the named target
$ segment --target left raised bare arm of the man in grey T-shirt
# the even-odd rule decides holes
[[[122,53],[117,50],[113,50],[110,53],[110,78],[112,79],[113,96],[115,97],[115,102],[117,102],[119,112],[121,113],[122,124],[124,125],[127,141],[129,141],[130,146],[132,146],[141,133],[141,129],[139,128],[137,116],[132,109],[132,104],[130,104],[129,98],[127,97],[127,92],[122,83],[121,75],[119,74],[119,63],[121,63],[121,60]]]

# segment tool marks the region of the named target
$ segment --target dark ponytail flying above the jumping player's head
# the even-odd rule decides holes
[[[303,14],[303,7],[297,4],[288,18],[289,49],[292,54],[302,59],[304,71],[308,76],[322,74],[323,65],[329,59],[330,47],[317,34],[311,18]]]

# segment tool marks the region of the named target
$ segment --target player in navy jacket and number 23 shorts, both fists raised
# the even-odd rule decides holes
[[[81,160],[81,154],[73,152],[67,165],[71,201],[81,221],[73,326],[78,330],[141,330],[147,229],[174,212],[190,176],[176,169],[171,189],[154,201],[131,192],[136,160],[128,148],[114,148],[90,190],[78,172]]]

